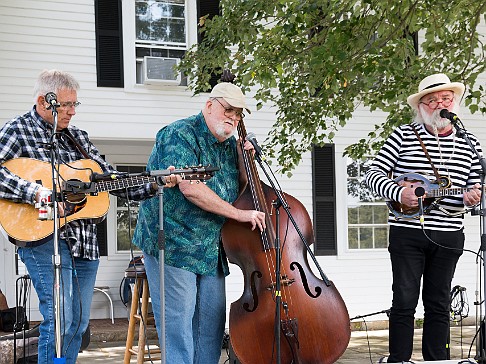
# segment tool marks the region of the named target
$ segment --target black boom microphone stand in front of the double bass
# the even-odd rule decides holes
[[[253,144],[253,143],[252,143]],[[297,231],[297,234],[299,235],[302,243],[304,244],[305,248],[307,249],[307,252],[309,253],[310,257],[312,258],[312,261],[314,262],[317,270],[319,271],[319,274],[324,281],[324,284],[326,286],[330,286],[331,283],[329,282],[329,279],[326,277],[324,272],[322,271],[319,263],[317,262],[317,259],[314,255],[314,252],[310,249],[309,244],[307,243],[304,235],[299,229],[299,226],[297,225],[297,222],[295,221],[294,217],[292,216],[292,213],[290,212],[290,208],[287,204],[287,201],[282,195],[282,191],[280,191],[272,178],[270,178],[270,174],[267,172],[267,169],[265,168],[265,165],[262,161],[261,158],[261,150],[257,150],[255,148],[255,159],[257,160],[258,164],[260,165],[263,173],[267,177],[268,182],[270,183],[270,186],[272,187],[275,195],[277,196],[276,200],[273,202],[273,205],[275,206],[275,218],[276,218],[276,223],[275,223],[275,230],[276,230],[276,236],[275,236],[275,255],[276,255],[276,269],[275,269],[275,274],[276,274],[276,282],[275,282],[275,305],[276,305],[276,316],[275,316],[275,339],[277,340],[276,343],[276,350],[277,350],[277,364],[280,364],[281,361],[281,350],[280,350],[280,305],[281,305],[281,282],[280,282],[280,265],[281,265],[281,249],[280,249],[280,237],[279,237],[279,229],[280,229],[280,207],[283,207],[285,213],[287,214],[289,220],[291,221],[292,225],[295,228],[295,231]]]

